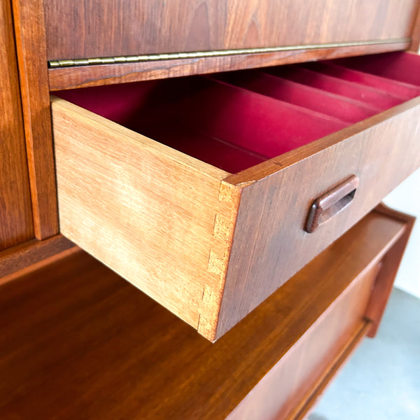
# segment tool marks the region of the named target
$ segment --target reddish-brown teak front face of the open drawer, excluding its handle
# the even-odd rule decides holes
[[[419,136],[417,97],[228,177],[244,187],[217,337],[420,167]],[[316,232],[305,232],[316,197],[352,174],[360,182],[349,207]]]

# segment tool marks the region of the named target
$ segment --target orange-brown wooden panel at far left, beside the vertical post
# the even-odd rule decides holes
[[[34,237],[12,15],[0,1],[0,251]]]

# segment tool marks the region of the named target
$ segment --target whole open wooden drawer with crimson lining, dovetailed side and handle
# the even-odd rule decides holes
[[[420,166],[408,53],[57,94],[62,234],[211,340]]]

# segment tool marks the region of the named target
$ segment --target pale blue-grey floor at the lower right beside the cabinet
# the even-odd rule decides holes
[[[420,299],[402,290],[308,418],[355,419],[420,420]]]

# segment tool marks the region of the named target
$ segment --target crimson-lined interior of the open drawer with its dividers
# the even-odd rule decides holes
[[[419,96],[419,66],[393,52],[56,94],[236,173]]]

